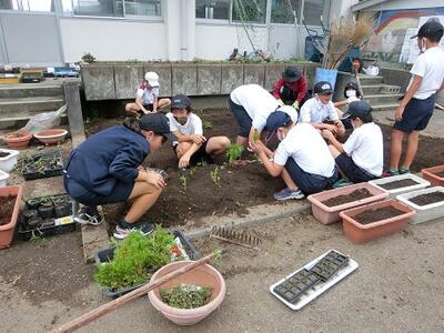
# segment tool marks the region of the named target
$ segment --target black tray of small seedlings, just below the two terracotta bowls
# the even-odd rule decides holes
[[[61,175],[63,172],[60,150],[26,155],[19,161],[19,168],[26,180]]]

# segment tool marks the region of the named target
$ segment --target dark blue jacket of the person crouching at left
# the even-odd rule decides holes
[[[150,152],[144,137],[123,125],[101,131],[69,155],[65,173],[89,191],[109,195],[117,181],[132,182]]]

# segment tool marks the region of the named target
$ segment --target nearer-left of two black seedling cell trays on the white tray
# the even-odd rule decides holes
[[[305,291],[311,289],[319,281],[320,278],[316,274],[302,269],[281,284],[276,285],[274,292],[289,303],[294,303],[303,293],[305,293]]]

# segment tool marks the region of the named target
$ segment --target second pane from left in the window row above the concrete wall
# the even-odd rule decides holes
[[[233,0],[233,21],[265,23],[266,0]]]

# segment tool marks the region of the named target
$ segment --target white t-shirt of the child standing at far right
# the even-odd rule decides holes
[[[417,57],[410,72],[413,75],[423,78],[413,97],[418,100],[430,98],[440,89],[444,80],[444,50],[440,47],[425,50],[424,53]],[[413,77],[410,80],[408,88],[412,81]]]

